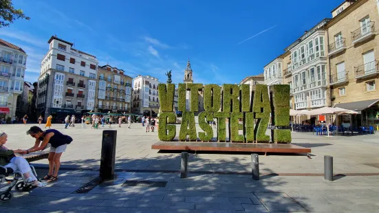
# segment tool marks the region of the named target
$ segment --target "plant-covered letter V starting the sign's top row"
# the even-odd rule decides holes
[[[162,112],[172,112],[175,94],[175,85],[173,84],[159,84],[158,85],[160,109]]]

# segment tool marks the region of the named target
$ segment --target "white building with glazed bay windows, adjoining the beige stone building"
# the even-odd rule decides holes
[[[324,26],[329,20],[324,19],[285,49],[291,53],[295,109],[327,106],[327,35]]]

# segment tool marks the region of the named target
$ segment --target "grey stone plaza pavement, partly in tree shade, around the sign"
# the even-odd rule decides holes
[[[32,146],[33,139],[25,135],[30,126],[1,126],[9,135],[7,147]],[[180,179],[175,172],[180,153],[151,150],[151,144],[158,141],[157,133],[145,133],[141,124],[132,124],[131,129],[113,126],[118,130],[116,179],[86,194],[75,194],[98,175],[91,170],[100,164],[101,130],[82,130],[80,125],[53,127],[74,138],[63,155],[59,180],[32,192],[14,192],[9,203],[0,203],[0,212],[379,212],[379,176],[367,174],[379,173],[375,167],[379,164],[378,135],[293,133],[294,144],[312,148],[311,159],[306,155],[260,155],[260,181],[252,181],[250,175],[235,175],[251,170],[249,154],[191,154],[191,173]],[[334,156],[334,173],[347,176],[340,175],[333,182],[307,176],[323,173],[323,155]],[[40,176],[46,174],[47,159],[34,165],[41,168]],[[167,181],[167,185],[122,186],[127,180]]]

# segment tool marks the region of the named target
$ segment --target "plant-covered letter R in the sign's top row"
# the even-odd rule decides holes
[[[239,112],[239,87],[238,85],[223,85],[222,111],[226,113]],[[232,107],[230,107],[232,106]]]

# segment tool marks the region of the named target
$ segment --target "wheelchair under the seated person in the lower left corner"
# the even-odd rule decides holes
[[[37,177],[34,166],[30,165],[33,174]],[[8,202],[12,199],[12,193],[10,192],[15,186],[15,189],[19,192],[29,192],[36,188],[36,186],[28,185],[23,174],[19,171],[14,172],[12,168],[6,168],[0,166],[0,201]]]

